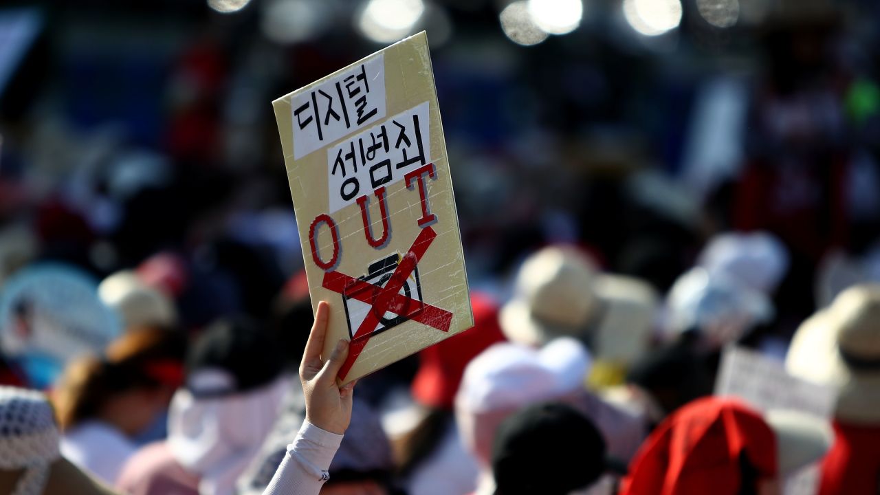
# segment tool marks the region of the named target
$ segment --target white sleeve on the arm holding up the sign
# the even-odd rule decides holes
[[[341,441],[342,435],[303,421],[263,495],[318,495]]]

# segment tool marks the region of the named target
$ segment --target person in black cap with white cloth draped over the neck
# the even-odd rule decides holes
[[[194,342],[172,398],[168,438],[143,447],[116,486],[136,495],[228,495],[275,424],[290,380],[267,332],[244,317],[216,321]]]

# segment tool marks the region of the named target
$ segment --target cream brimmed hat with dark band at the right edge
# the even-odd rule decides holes
[[[880,424],[880,284],[850,287],[795,334],[789,373],[838,390],[835,417]]]

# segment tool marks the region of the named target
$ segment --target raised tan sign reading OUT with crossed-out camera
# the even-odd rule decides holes
[[[425,33],[275,100],[325,353],[347,383],[473,326]]]

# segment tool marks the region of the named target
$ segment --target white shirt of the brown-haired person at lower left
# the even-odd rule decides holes
[[[111,486],[137,447],[122,432],[101,421],[85,421],[61,439],[61,454]]]

